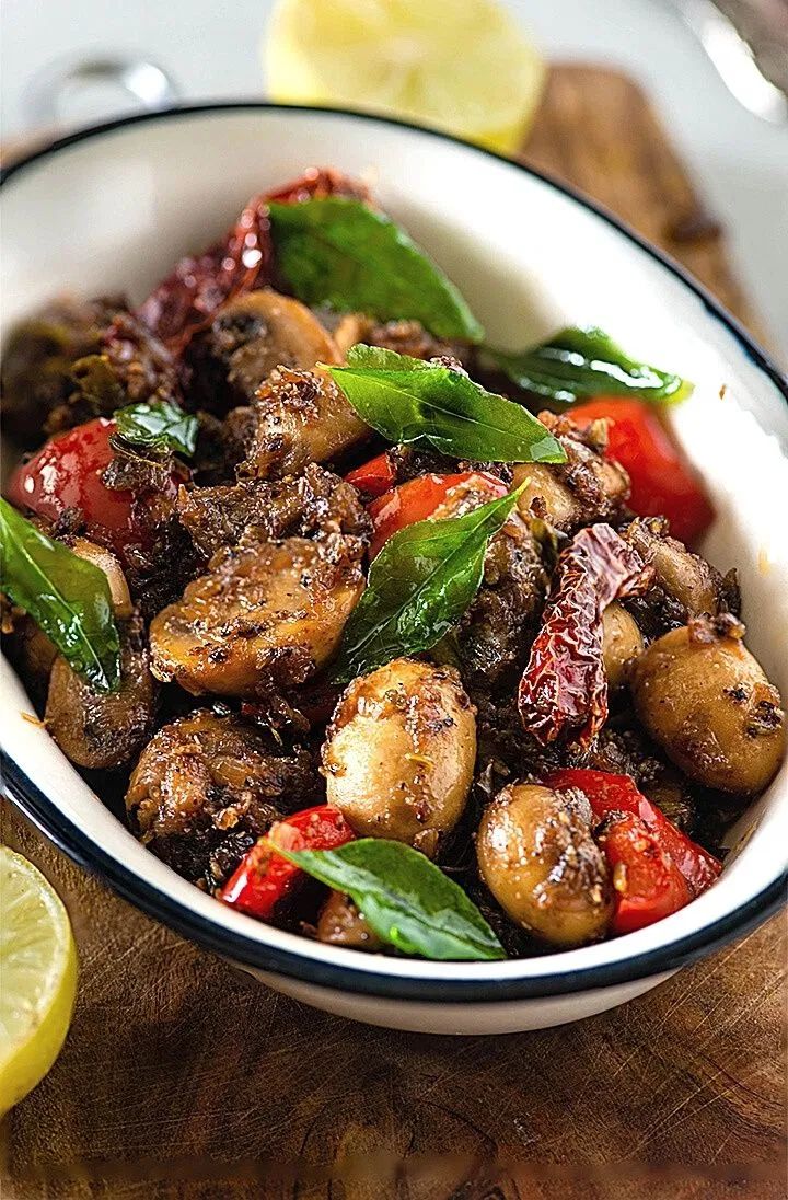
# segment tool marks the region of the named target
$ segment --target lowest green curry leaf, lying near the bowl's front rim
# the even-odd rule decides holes
[[[426,959],[505,959],[504,947],[463,889],[417,850],[362,838],[338,850],[284,851],[313,878],[347,892],[390,946]]]

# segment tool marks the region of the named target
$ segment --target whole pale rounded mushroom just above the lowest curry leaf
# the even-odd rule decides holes
[[[323,748],[329,803],[360,836],[425,851],[465,806],[474,708],[451,667],[396,659],[345,690]]]

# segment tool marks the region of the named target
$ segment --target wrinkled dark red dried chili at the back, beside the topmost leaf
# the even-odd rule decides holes
[[[253,196],[227,235],[204,253],[182,258],[137,316],[168,349],[181,353],[223,304],[270,282],[269,203],[299,204],[326,196],[367,199],[367,191],[339,172],[312,168],[285,187]]]

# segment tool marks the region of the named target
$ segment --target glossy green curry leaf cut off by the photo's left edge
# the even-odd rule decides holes
[[[96,691],[120,685],[120,641],[107,576],[0,499],[2,590]]]

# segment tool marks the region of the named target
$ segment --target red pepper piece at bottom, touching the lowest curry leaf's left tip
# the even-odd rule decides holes
[[[303,878],[303,871],[277,854],[283,850],[336,850],[353,841],[354,833],[339,809],[320,804],[275,821],[266,838],[246,852],[219,892],[219,899],[251,917],[270,920],[276,908]]]

